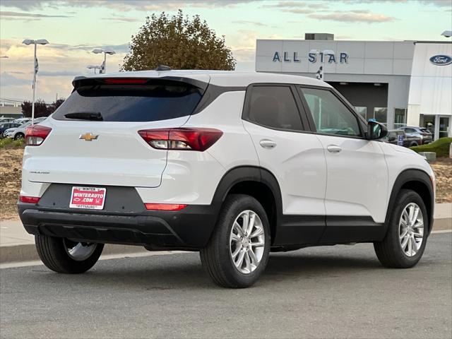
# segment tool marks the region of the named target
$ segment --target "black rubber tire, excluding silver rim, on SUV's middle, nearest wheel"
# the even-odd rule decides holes
[[[230,234],[233,223],[244,210],[252,210],[261,219],[265,244],[263,256],[256,269],[242,273],[235,266],[230,254]],[[221,287],[250,287],[265,270],[270,253],[270,226],[266,211],[255,198],[244,194],[231,194],[226,198],[208,245],[201,249],[201,263],[210,278]]]

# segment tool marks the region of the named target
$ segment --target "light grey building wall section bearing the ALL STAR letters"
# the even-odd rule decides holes
[[[394,109],[408,108],[414,42],[257,40],[256,71],[315,77],[321,61],[319,57],[313,61],[312,49],[335,52],[334,61],[325,59],[326,82],[387,84],[384,107],[388,107],[388,128],[393,129]],[[273,61],[275,52],[279,61]],[[347,57],[341,59],[344,54]]]

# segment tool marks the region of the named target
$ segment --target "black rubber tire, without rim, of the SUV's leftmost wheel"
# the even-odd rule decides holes
[[[37,254],[47,268],[57,273],[85,273],[92,268],[102,254],[104,244],[97,244],[92,254],[85,260],[76,261],[69,256],[64,238],[35,235]]]

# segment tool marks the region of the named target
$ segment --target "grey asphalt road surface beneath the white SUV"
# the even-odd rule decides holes
[[[216,287],[196,253],[99,261],[83,275],[0,270],[1,338],[452,338],[452,233],[410,269],[371,244],[271,254],[245,290]]]

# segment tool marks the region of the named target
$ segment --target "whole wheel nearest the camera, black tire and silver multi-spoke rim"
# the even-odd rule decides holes
[[[255,198],[232,194],[222,206],[215,231],[201,249],[201,263],[222,287],[249,287],[265,270],[270,252],[270,227]]]

